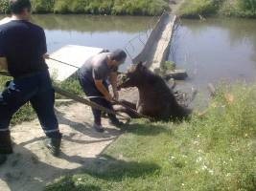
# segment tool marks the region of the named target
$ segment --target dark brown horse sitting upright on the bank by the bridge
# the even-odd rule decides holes
[[[123,104],[132,107],[139,114],[156,120],[182,119],[191,114],[191,110],[177,103],[174,93],[164,79],[158,74],[153,74],[143,63],[132,66],[119,81],[119,89],[129,87],[138,88],[139,100],[137,105],[125,100]],[[126,113],[135,117],[130,111]]]

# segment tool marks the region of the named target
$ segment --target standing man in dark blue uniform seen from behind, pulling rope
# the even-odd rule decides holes
[[[0,26],[0,69],[7,68],[13,80],[0,93],[0,164],[12,154],[10,121],[13,114],[31,102],[47,147],[58,156],[61,134],[54,112],[55,92],[45,63],[47,47],[42,28],[32,24],[30,0],[11,0],[12,19]]]

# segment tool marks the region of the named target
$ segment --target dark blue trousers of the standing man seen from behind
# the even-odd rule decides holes
[[[0,93],[0,134],[9,132],[13,114],[25,103],[31,102],[47,137],[59,138],[55,115],[55,92],[48,71],[14,78]]]

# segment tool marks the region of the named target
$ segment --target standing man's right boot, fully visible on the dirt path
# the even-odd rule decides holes
[[[62,135],[59,134],[57,137],[46,138],[45,140],[46,147],[50,150],[51,154],[54,157],[59,156],[61,138],[62,138]]]

